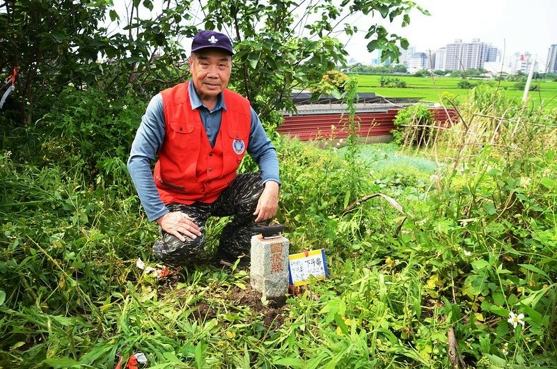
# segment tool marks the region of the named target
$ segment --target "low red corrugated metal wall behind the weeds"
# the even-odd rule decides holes
[[[450,119],[453,122],[457,118],[455,109],[430,109],[436,121],[446,123]],[[395,129],[393,120],[398,109],[389,109],[386,112],[356,113],[356,121],[360,123],[357,134],[359,136],[383,136],[391,134]],[[285,116],[283,124],[278,127],[278,132],[298,137],[301,141],[315,139],[343,139],[348,136],[345,125],[348,116],[340,113],[312,115]]]

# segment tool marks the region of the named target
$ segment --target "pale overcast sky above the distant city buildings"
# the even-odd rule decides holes
[[[410,14],[410,24],[400,21],[384,24],[387,30],[406,37],[416,52],[436,50],[460,38],[492,43],[505,54],[530,52],[545,61],[547,49],[557,44],[557,0],[414,0],[429,10],[430,16],[418,11]],[[380,19],[380,17],[379,17]],[[367,29],[368,19],[355,21]],[[375,19],[374,19],[375,22]],[[375,54],[366,52],[361,32],[348,42],[347,50],[357,61],[365,62]]]

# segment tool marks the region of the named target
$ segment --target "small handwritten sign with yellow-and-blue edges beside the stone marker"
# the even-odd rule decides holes
[[[288,272],[291,285],[305,285],[309,276],[317,279],[329,278],[325,249],[289,255]]]

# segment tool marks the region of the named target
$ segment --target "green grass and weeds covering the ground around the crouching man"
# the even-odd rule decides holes
[[[158,281],[136,267],[137,258],[157,267],[158,231],[117,160],[127,150],[111,148],[131,141],[120,134],[132,117],[85,135],[113,114],[91,109],[107,101],[91,92],[30,129],[40,146],[21,130],[0,150],[0,369],[114,368],[135,352],[152,369],[443,369],[451,332],[469,368],[557,367],[549,112],[512,111],[516,125],[498,126],[496,141],[467,146],[456,162],[394,143],[322,150],[279,136],[276,221],[290,253],[326,250],[329,278],[278,306],[250,290],[247,269],[171,268]],[[479,116],[470,135],[495,129],[483,102],[508,110],[495,97],[477,93],[462,107]],[[436,154],[458,149],[447,136],[462,133],[451,130]],[[207,255],[222,226],[207,226]],[[510,313],[524,326],[509,324]]]

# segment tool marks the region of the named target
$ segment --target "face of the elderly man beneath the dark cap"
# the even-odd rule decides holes
[[[201,100],[216,100],[230,79],[232,57],[220,49],[206,49],[189,56],[191,80]]]

